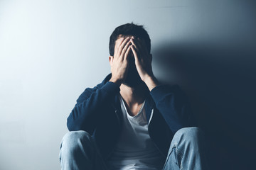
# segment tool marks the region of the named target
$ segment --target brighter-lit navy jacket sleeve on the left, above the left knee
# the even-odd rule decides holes
[[[119,91],[119,86],[112,81],[107,81],[101,88],[95,86],[93,89],[85,89],[67,118],[68,130],[85,130],[92,134],[102,107],[112,101]]]

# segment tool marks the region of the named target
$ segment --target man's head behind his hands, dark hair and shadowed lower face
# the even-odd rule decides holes
[[[134,38],[140,38],[144,40],[146,44],[146,49],[148,50],[150,54],[151,50],[151,40],[149,38],[149,34],[146,32],[146,30],[143,28],[143,26],[136,25],[134,23],[126,23],[122,26],[118,26],[114,29],[112,35],[110,35],[110,56],[114,56],[114,47],[116,45],[116,41],[119,38],[127,37],[127,36],[134,36]],[[129,55],[131,56],[131,60],[129,60],[129,69],[127,72],[127,78],[123,82],[123,84],[131,87],[136,87],[139,84],[144,84],[144,81],[140,79],[139,73],[137,72],[137,69],[135,67],[134,63],[134,55],[132,52],[129,52]]]

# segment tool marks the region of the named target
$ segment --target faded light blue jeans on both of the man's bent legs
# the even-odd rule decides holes
[[[208,169],[204,132],[197,127],[181,128],[174,134],[163,170]],[[68,132],[60,144],[63,170],[108,170],[97,145],[88,132]]]

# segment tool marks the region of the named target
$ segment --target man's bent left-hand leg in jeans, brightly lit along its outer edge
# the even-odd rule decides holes
[[[107,169],[95,141],[84,130],[64,135],[59,157],[63,170]]]

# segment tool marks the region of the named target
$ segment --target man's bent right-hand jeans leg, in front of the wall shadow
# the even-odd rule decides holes
[[[174,134],[163,169],[208,169],[205,146],[200,128],[181,128]]]

